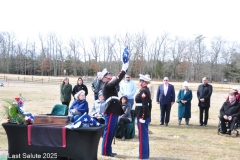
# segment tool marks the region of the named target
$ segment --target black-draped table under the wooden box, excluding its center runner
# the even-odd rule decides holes
[[[2,123],[8,137],[8,159],[96,160],[100,137],[105,126],[66,130],[66,147],[34,146],[28,144],[28,126]],[[54,126],[53,126],[54,127]]]

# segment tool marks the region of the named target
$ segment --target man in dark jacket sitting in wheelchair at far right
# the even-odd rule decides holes
[[[240,106],[234,93],[230,93],[228,97],[229,101],[224,102],[220,109],[219,120],[221,122],[220,133],[230,135],[234,128],[234,123],[237,122],[240,116]],[[230,126],[229,131],[227,131],[225,122],[228,122],[228,126]]]

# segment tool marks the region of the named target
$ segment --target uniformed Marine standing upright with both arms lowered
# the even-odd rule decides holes
[[[151,94],[147,88],[150,78],[139,74],[140,90],[135,97],[135,117],[137,117],[138,139],[139,139],[139,159],[149,158],[149,137],[148,125],[150,123],[149,103],[151,102]]]

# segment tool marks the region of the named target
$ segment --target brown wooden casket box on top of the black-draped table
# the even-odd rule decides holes
[[[52,114],[39,114],[34,116],[33,125],[67,125],[68,116],[56,116]]]

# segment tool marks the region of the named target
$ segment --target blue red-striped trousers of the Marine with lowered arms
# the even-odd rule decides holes
[[[139,159],[149,158],[149,137],[148,137],[149,122],[150,118],[146,118],[145,123],[139,122],[139,118],[137,118]]]

